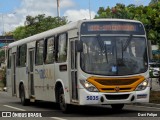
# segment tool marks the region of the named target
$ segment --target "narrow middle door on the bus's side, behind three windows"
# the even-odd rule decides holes
[[[29,96],[30,101],[34,102],[34,49],[29,49],[28,54],[28,87],[29,87]]]

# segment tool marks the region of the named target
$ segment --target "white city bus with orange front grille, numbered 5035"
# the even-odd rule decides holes
[[[8,94],[73,105],[149,102],[149,52],[141,22],[80,20],[8,45]]]

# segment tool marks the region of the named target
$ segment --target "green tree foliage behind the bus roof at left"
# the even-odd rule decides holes
[[[19,26],[13,31],[16,40],[23,39],[67,23],[66,17],[45,17],[45,14],[35,17],[27,16],[25,25]]]

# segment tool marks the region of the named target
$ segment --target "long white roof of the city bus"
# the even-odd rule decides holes
[[[78,26],[82,23],[82,22],[92,22],[92,21],[124,21],[124,22],[137,22],[137,23],[141,23],[140,21],[136,21],[136,20],[128,20],[128,19],[92,19],[92,20],[79,20],[77,22],[72,22],[18,41],[15,41],[13,43],[10,43],[8,45],[8,48],[12,48],[14,46],[18,46],[18,45],[22,45],[25,43],[29,43],[32,41],[36,41],[36,40],[40,40],[49,36],[52,36],[54,34],[58,34],[58,33],[62,33],[71,29],[76,29],[78,28]]]

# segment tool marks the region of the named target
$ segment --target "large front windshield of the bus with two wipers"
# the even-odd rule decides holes
[[[145,37],[82,36],[81,68],[97,75],[132,75],[147,71]]]

